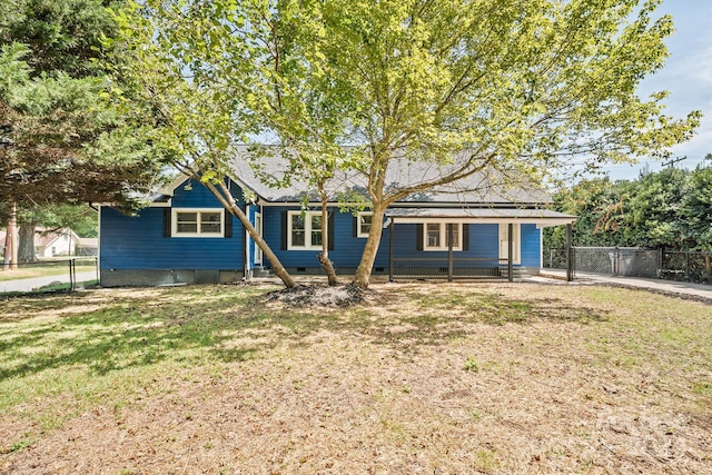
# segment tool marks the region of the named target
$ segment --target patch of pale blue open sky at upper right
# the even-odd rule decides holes
[[[669,116],[682,118],[692,110],[702,111],[694,137],[672,148],[673,158],[686,157],[676,166],[694,168],[712,154],[712,0],[664,0],[656,12],[673,18],[675,32],[666,41],[671,56],[663,69],[645,78],[640,93],[647,97],[670,91],[664,101]],[[613,179],[634,179],[643,167],[657,171],[663,162],[641,159],[639,165],[607,166],[604,170]]]

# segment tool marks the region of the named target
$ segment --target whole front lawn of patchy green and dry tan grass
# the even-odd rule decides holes
[[[712,306],[596,286],[14,298],[0,473],[710,473]]]

